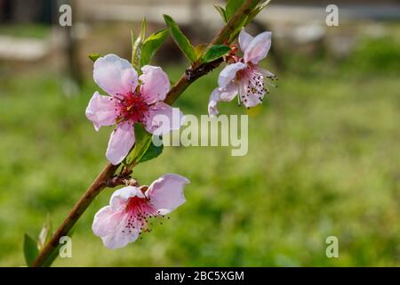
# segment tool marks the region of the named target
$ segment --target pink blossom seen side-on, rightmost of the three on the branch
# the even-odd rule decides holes
[[[264,95],[268,93],[264,78],[276,78],[274,74],[259,66],[259,61],[267,56],[271,47],[271,32],[263,32],[257,37],[252,37],[242,28],[239,45],[244,57],[232,56],[231,60],[234,63],[228,64],[220,72],[219,86],[212,91],[208,103],[210,116],[218,114],[218,102],[232,101],[236,94],[238,94],[239,104],[243,103],[247,108],[260,104]]]

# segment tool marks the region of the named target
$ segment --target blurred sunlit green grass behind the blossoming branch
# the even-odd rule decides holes
[[[76,226],[73,258],[55,265],[400,265],[399,74],[378,72],[377,55],[363,51],[375,65],[299,61],[279,74],[279,87],[249,119],[247,156],[165,148],[141,164],[141,183],[187,176],[188,202],[143,240],[109,250],[91,230],[106,190]],[[183,67],[166,69],[175,80]],[[184,113],[206,113],[217,75],[189,87]],[[105,164],[110,128],[96,133],[84,117],[99,89],[90,78],[70,98],[60,78],[42,72],[0,88],[0,265],[23,265],[24,232],[37,235],[47,213],[60,224]],[[220,111],[246,112],[235,102]],[[331,235],[339,258],[325,256]]]

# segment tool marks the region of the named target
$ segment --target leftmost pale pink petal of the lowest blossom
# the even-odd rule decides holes
[[[99,237],[115,232],[116,226],[124,219],[124,212],[114,211],[111,207],[100,208],[93,219],[92,231]]]

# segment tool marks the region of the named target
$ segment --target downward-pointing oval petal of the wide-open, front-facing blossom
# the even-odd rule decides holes
[[[124,160],[135,142],[132,123],[122,122],[111,133],[106,151],[108,161],[117,165]]]

